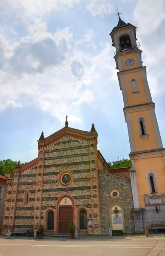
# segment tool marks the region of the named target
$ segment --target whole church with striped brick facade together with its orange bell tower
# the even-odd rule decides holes
[[[7,180],[3,230],[37,229],[79,235],[143,233],[165,227],[165,148],[149,90],[136,27],[119,22],[111,32],[124,101],[132,166],[111,169],[97,150],[97,131],[65,127],[49,137],[42,132],[38,157],[14,169]]]

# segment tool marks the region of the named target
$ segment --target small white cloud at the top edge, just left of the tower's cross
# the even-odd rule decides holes
[[[86,5],[86,9],[93,16],[100,15],[104,17],[105,14],[113,12],[114,4],[111,5],[108,0],[90,0]]]

